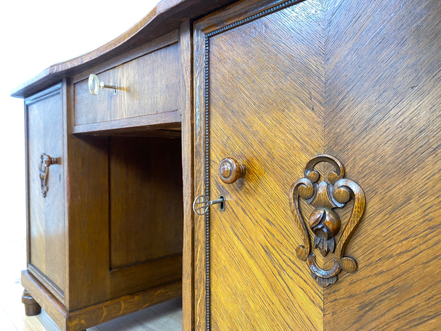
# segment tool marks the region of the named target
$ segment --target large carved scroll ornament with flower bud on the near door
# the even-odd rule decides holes
[[[329,172],[327,179],[320,180],[320,173],[314,169],[316,164],[327,162],[334,165],[334,170]],[[305,177],[298,179],[289,192],[289,203],[294,220],[303,239],[303,245],[296,248],[297,257],[307,261],[311,275],[319,285],[323,287],[337,281],[337,275],[341,270],[354,272],[357,270],[357,262],[351,257],[345,257],[345,248],[351,235],[356,230],[358,223],[365,212],[365,192],[350,179],[345,179],[345,169],[342,163],[329,155],[317,155],[310,159],[305,166]],[[298,199],[302,198],[314,206],[308,223],[302,217]],[[345,203],[353,199],[353,210],[349,221],[338,243],[336,235],[340,232],[341,221],[336,208],[342,208]],[[314,232],[314,242],[309,239],[309,230]],[[316,255],[311,250],[318,249],[323,256],[334,254],[334,265],[325,270],[316,263]]]

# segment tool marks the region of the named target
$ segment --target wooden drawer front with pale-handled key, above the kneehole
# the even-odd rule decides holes
[[[178,43],[105,70],[91,72],[106,85],[92,95],[88,79],[74,84],[74,125],[129,119],[178,110],[181,90]]]

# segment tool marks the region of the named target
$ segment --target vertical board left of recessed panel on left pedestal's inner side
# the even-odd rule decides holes
[[[68,311],[108,299],[107,137],[68,138]],[[85,295],[87,293],[87,295]]]

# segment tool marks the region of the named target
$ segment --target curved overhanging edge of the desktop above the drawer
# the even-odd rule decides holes
[[[12,90],[13,97],[28,97],[43,88],[89,70],[99,63],[119,57],[127,49],[145,45],[158,37],[177,30],[185,19],[194,19],[221,8],[233,0],[163,0],[139,23],[110,43],[75,59],[61,62],[43,70],[37,76]]]

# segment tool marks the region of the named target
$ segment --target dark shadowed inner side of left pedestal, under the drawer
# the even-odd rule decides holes
[[[180,139],[82,135],[70,147],[68,310],[181,279]]]

